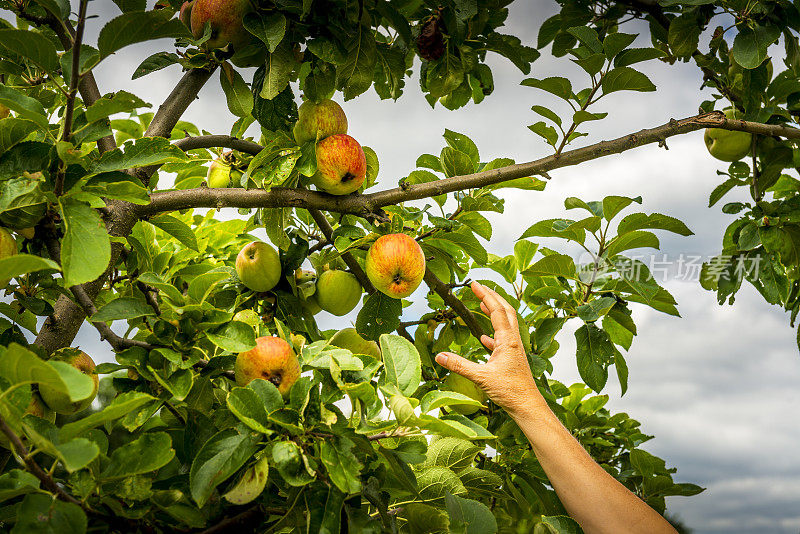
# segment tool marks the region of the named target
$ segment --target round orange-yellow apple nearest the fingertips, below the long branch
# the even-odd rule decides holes
[[[425,276],[425,254],[414,238],[388,234],[378,238],[367,252],[367,277],[375,289],[395,299],[413,293]]]

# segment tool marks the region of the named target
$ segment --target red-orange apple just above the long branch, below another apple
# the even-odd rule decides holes
[[[349,195],[366,177],[367,157],[358,141],[336,134],[317,143],[317,172],[312,181],[319,189],[332,195]]]

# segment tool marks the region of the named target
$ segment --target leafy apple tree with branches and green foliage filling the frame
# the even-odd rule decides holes
[[[674,481],[641,448],[651,436],[601,393],[612,371],[627,388],[636,309],[677,315],[630,251],[691,230],[637,210],[639,197],[570,197],[574,219],[520,227],[499,256],[486,250],[486,214],[502,213],[509,190],[535,197],[561,167],[715,128],[712,154],[735,161],[709,205],[734,188],[752,201],[723,206],[737,219],[701,283],[723,302],[747,280],[794,320],[794,4],[563,0],[535,33],[513,36],[503,33],[506,0],[114,3],[119,15],[88,43],[87,0],[0,0],[13,15],[0,20],[0,516],[12,532],[580,532],[516,424],[433,359],[486,357],[478,338],[491,324],[466,288],[475,279],[519,310],[543,395],[597,462],[660,513],[666,497],[702,491]],[[636,46],[632,25],[644,32]],[[165,49],[132,76],[184,69],[156,108],[98,87],[98,64],[156,39]],[[785,54],[773,61],[779,41]],[[537,76],[542,53],[584,75]],[[326,106],[369,90],[396,100],[418,90],[406,86],[413,74],[431,106],[458,110],[492,98],[491,54],[529,76],[532,98],[571,108],[533,106],[542,120],[530,129],[547,155],[483,158],[445,130],[408,176],[381,172],[380,155],[363,147],[357,191],[319,180],[329,137],[293,132],[302,100]],[[699,115],[583,139],[583,123],[608,115],[597,109],[604,96],[656,90],[637,70],[644,61],[692,62],[713,97],[697,102]],[[221,84],[238,118],[228,132],[181,120],[206,83]],[[744,159],[728,134],[750,136]],[[237,257],[262,230],[272,263],[251,268],[274,283],[254,288]],[[407,274],[422,283],[408,295],[374,275],[381,260],[369,266],[390,235],[421,251]],[[542,238],[593,260],[578,264]],[[760,269],[743,268],[756,259]],[[322,283],[332,275],[340,280]],[[321,331],[326,302],[337,315],[355,307],[355,331]],[[426,311],[404,313],[412,303]],[[115,361],[79,365],[85,355],[71,345],[86,322]],[[550,378],[568,323],[584,382],[572,385]],[[270,373],[241,379],[237,355],[265,337],[289,347],[299,378],[271,361]],[[100,377],[99,391],[87,375]]]

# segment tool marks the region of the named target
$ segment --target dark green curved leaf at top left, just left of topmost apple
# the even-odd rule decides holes
[[[120,15],[103,26],[97,48],[105,58],[134,43],[165,37],[191,38],[189,29],[177,18],[170,19],[170,10],[138,11]]]

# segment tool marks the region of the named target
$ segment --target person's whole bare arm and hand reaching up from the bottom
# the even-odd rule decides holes
[[[494,338],[481,336],[481,343],[492,351],[489,360],[480,364],[442,352],[436,361],[475,382],[508,412],[567,512],[586,534],[676,534],[666,519],[603,470],[547,406],[528,366],[514,308],[477,282],[472,291],[494,328]]]

